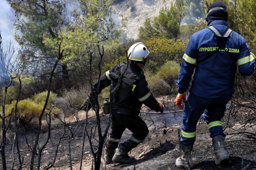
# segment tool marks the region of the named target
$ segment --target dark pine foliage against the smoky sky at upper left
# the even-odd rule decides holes
[[[24,53],[29,54],[24,56],[23,61],[36,57],[38,53],[35,51],[48,51],[48,47],[42,43],[43,34],[48,38],[58,36],[58,30],[64,24],[62,12],[65,3],[61,0],[46,2],[8,0],[8,2],[16,11],[18,20],[16,28],[22,33],[21,36],[16,34],[16,40],[20,45],[26,46]]]

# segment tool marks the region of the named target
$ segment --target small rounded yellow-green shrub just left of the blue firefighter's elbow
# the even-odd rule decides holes
[[[178,63],[175,61],[168,61],[160,67],[156,76],[160,79],[164,79],[170,86],[172,86],[178,79],[179,71],[180,65]]]

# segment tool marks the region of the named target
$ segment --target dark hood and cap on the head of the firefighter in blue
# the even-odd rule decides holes
[[[214,20],[228,21],[228,12],[223,2],[217,1],[208,7],[206,16],[208,25]]]

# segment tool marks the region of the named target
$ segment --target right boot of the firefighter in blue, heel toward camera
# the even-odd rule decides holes
[[[228,156],[228,151],[225,146],[225,137],[221,135],[217,135],[212,138],[212,146],[214,148],[215,153],[215,164],[223,165],[230,163],[230,159]]]

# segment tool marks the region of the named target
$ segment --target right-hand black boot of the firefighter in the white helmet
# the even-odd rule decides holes
[[[130,148],[123,146],[123,144],[119,144],[116,153],[114,154],[112,161],[117,163],[130,164],[134,162],[136,159],[134,156],[128,156],[128,152],[130,152]]]

